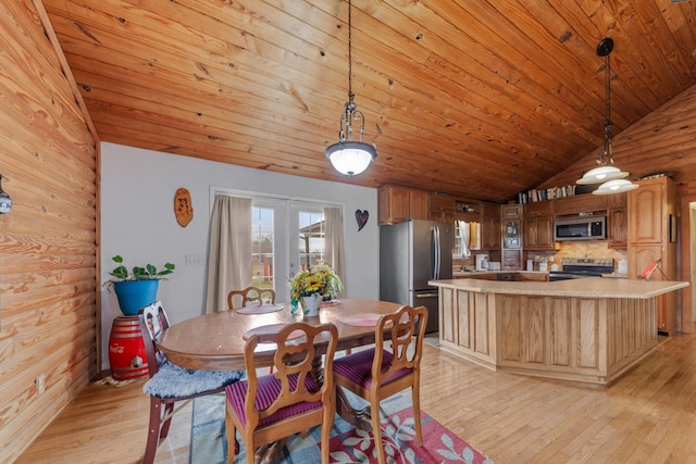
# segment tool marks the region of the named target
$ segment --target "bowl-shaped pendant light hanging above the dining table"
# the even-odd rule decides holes
[[[352,24],[351,1],[348,0],[348,102],[344,105],[344,114],[340,117],[340,130],[338,141],[326,148],[326,158],[340,174],[352,177],[368,168],[371,162],[377,158],[374,145],[362,141],[365,131],[365,121],[358,111],[352,92]],[[356,130],[353,130],[353,124]],[[352,140],[355,131],[359,133],[358,140]]]

